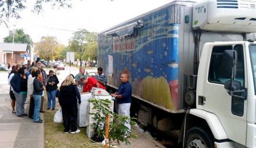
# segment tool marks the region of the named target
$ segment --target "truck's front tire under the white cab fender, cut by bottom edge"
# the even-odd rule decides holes
[[[211,131],[205,131],[194,127],[187,131],[186,148],[213,148],[213,136]]]

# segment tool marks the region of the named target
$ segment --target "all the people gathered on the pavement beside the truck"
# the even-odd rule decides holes
[[[54,75],[52,70],[49,75],[43,70],[44,66],[40,60],[35,61],[34,66],[28,66],[27,62],[12,66],[12,70],[8,75],[10,87],[10,97],[12,99],[12,113],[18,117],[29,116],[34,123],[42,123],[40,119],[40,111],[43,111],[44,90],[46,89],[48,96],[47,109],[55,109],[55,97],[57,94],[59,83],[58,77]],[[59,103],[62,107],[64,133],[79,133],[76,120],[78,118],[78,105],[81,103],[80,92],[90,92],[93,87],[105,89],[106,76],[103,68],[98,68],[96,77],[85,78],[85,67],[80,67],[79,73],[74,77],[68,75],[60,86],[58,94]],[[130,117],[131,106],[131,84],[129,83],[129,75],[122,73],[121,84],[115,93],[111,96],[116,98],[119,103],[118,113]],[[80,91],[83,90],[83,91]],[[29,115],[25,114],[24,104],[26,98],[30,99]],[[131,126],[129,121],[125,124],[129,130]]]

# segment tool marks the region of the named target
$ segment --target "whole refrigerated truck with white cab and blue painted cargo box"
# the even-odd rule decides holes
[[[256,147],[255,5],[173,1],[102,31],[108,91],[128,73],[131,112],[184,147]]]

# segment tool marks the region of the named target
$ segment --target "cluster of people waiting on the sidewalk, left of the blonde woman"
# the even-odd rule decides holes
[[[49,83],[47,83],[48,81]],[[53,75],[53,71],[50,71],[49,75],[47,75],[40,59],[35,61],[34,66],[30,65],[30,61],[24,61],[23,64],[18,63],[12,66],[12,70],[8,75],[8,82],[10,84],[9,95],[12,99],[12,113],[16,114],[17,117],[29,116],[34,123],[42,123],[39,115],[40,112],[43,112],[45,88],[49,92],[48,107],[50,105],[54,110],[56,95],[54,92],[57,92],[59,81],[57,76]],[[29,114],[26,114],[24,109],[27,98],[30,99]]]

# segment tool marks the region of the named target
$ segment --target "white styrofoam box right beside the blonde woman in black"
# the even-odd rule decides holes
[[[78,120],[77,124],[79,127],[85,127],[86,126],[86,118],[87,118],[87,106],[88,101],[91,98],[91,93],[81,93],[81,104],[78,105]]]

